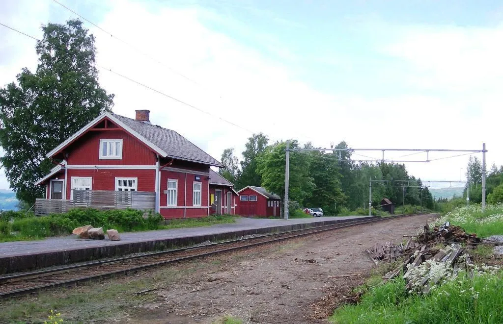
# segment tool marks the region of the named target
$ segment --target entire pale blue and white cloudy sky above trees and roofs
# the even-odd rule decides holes
[[[85,22],[115,113],[149,109],[153,123],[217,159],[228,147],[241,158],[247,137],[263,132],[318,147],[485,142],[487,169],[503,164],[498,1],[58,1],[99,26]],[[53,0],[0,2],[0,23],[39,39],[42,25],[75,18]],[[0,86],[36,69],[35,43],[0,26]],[[426,158],[406,153],[385,158]],[[468,157],[406,166],[423,180],[465,180]],[[0,174],[0,189],[8,187]]]

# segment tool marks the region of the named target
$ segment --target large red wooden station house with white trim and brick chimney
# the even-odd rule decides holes
[[[35,213],[89,206],[152,209],[164,218],[209,215],[210,167],[223,165],[176,131],[151,124],[149,114],[105,112],[47,153],[56,166],[36,182],[46,186],[46,200],[37,200]],[[229,184],[215,185],[227,188],[226,197]]]

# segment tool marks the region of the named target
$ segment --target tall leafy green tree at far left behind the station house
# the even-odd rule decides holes
[[[2,166],[16,197],[28,203],[43,193],[35,181],[54,166],[45,154],[113,104],[98,84],[95,38],[82,23],[42,30],[36,72],[24,68],[0,88]]]

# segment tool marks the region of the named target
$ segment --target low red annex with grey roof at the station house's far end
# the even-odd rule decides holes
[[[234,184],[210,169],[210,213],[235,215],[238,197]]]

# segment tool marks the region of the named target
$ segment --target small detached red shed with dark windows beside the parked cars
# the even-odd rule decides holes
[[[280,196],[265,188],[248,186],[239,194],[238,214],[241,216],[280,216]]]

